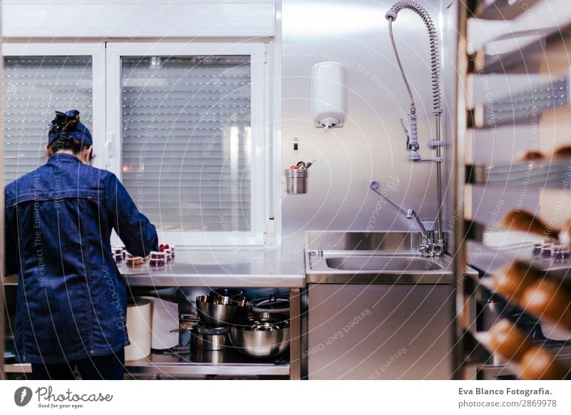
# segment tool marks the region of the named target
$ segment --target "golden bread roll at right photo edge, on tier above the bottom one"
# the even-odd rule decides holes
[[[533,282],[525,288],[520,304],[537,317],[547,318],[571,329],[571,293],[558,282]]]

